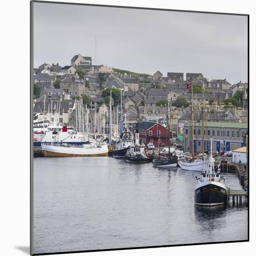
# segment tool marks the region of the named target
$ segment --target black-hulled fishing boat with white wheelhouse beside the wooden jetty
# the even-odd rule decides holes
[[[209,165],[206,171],[202,171],[201,178],[197,179],[195,188],[195,204],[202,206],[215,206],[227,203],[227,187],[224,178],[220,175],[220,164],[214,164],[212,156],[212,142],[210,138],[211,153],[209,157]],[[217,169],[217,171],[215,171]]]

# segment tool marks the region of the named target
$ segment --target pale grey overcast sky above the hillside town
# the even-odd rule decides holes
[[[34,67],[75,54],[139,73],[247,81],[247,17],[34,3]]]

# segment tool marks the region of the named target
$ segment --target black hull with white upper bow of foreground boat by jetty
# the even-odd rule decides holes
[[[195,204],[215,206],[227,203],[227,188],[221,182],[202,182],[195,189]]]

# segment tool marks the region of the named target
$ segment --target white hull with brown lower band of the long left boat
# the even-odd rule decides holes
[[[73,148],[60,147],[42,144],[42,153],[44,156],[53,157],[73,157],[73,156],[108,156],[108,146],[102,145],[101,148]]]

